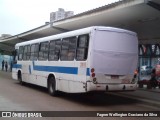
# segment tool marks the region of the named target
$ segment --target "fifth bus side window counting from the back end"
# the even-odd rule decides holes
[[[31,56],[30,60],[37,60],[38,58],[38,51],[39,51],[39,44],[31,45]]]

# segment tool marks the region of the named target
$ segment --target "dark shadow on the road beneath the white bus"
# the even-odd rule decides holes
[[[19,84],[19,83],[16,83]],[[20,84],[19,84],[20,85]],[[43,92],[48,94],[48,90],[44,87],[36,86],[33,84],[25,83],[24,87]],[[63,93],[59,92],[56,98],[65,99],[75,103],[88,105],[88,106],[114,106],[114,105],[126,105],[138,103],[136,99],[126,98],[112,94],[112,92],[106,93]],[[53,97],[54,99],[54,97]]]

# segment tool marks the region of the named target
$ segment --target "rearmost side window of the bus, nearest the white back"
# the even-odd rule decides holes
[[[78,61],[86,60],[88,56],[89,35],[81,35],[78,37],[77,55]]]

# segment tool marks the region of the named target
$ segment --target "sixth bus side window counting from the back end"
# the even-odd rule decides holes
[[[23,60],[29,60],[30,59],[30,53],[31,53],[30,45],[24,46]]]

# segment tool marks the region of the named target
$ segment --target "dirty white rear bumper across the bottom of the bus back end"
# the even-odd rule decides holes
[[[94,84],[87,82],[87,92],[90,91],[134,91],[137,84]]]

